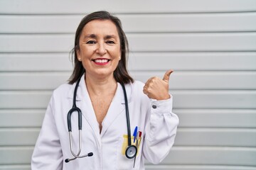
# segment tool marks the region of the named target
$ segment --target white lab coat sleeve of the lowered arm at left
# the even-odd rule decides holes
[[[63,154],[60,147],[60,140],[55,125],[53,111],[54,100],[52,97],[46,110],[41,132],[33,151],[31,159],[32,170],[58,170],[63,168]]]

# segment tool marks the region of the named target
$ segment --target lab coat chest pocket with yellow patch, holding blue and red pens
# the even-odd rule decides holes
[[[139,160],[138,159],[138,155],[139,155],[139,147],[138,152],[137,152],[137,158],[136,158],[136,162],[135,162],[135,166],[134,166],[134,159],[128,159],[125,156],[125,151],[127,149],[128,146],[128,140],[127,140],[127,135],[123,135],[122,138],[119,138],[119,142],[118,142],[118,147],[117,147],[117,169],[122,169],[122,170],[127,170],[127,169],[138,169],[137,165],[139,164]],[[140,143],[140,140],[138,141]],[[132,145],[134,144],[134,140],[132,137]]]

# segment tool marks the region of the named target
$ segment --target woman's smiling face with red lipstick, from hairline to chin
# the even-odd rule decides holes
[[[76,53],[85,67],[86,77],[113,77],[121,59],[117,27],[110,20],[90,21],[82,29]]]

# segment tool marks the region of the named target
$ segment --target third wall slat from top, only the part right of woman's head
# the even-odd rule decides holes
[[[132,51],[253,51],[256,33],[128,35]]]

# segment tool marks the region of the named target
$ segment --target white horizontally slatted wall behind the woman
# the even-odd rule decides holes
[[[256,169],[256,1],[0,1],[0,169],[28,170],[85,13],[121,18],[135,79],[171,75],[176,143],[148,170]]]

